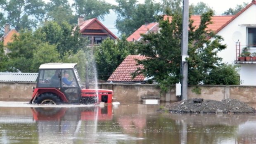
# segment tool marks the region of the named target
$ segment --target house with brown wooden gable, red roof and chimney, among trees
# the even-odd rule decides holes
[[[108,28],[106,28],[97,18],[83,20],[83,17],[78,18],[78,26],[80,28],[80,33],[83,37],[88,37],[90,44],[100,44],[102,40],[107,37],[112,40],[117,39]]]

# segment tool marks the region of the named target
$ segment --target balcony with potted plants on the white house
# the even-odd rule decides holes
[[[235,64],[256,64],[256,45],[237,43]]]

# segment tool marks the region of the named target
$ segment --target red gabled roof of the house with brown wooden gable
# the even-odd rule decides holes
[[[86,21],[83,21],[83,23],[79,26],[80,32],[82,33],[87,28],[93,28],[92,24],[97,24],[101,26],[107,33],[109,33],[113,38],[117,38],[116,35],[114,35],[111,31],[109,31],[108,28],[106,28],[97,18],[88,19]],[[94,27],[96,28],[96,27]],[[97,29],[97,28],[96,28]]]

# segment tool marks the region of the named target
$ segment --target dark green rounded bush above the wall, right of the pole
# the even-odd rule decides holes
[[[239,85],[239,73],[236,65],[221,64],[213,69],[204,84],[211,85]]]

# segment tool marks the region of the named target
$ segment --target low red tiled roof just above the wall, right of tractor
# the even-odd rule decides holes
[[[109,77],[107,81],[113,82],[132,82],[132,81],[143,81],[145,76],[142,74],[132,79],[131,73],[137,70],[137,67],[143,68],[142,65],[136,66],[137,62],[135,59],[143,60],[145,56],[141,55],[129,55],[123,62],[116,68],[114,73]]]

